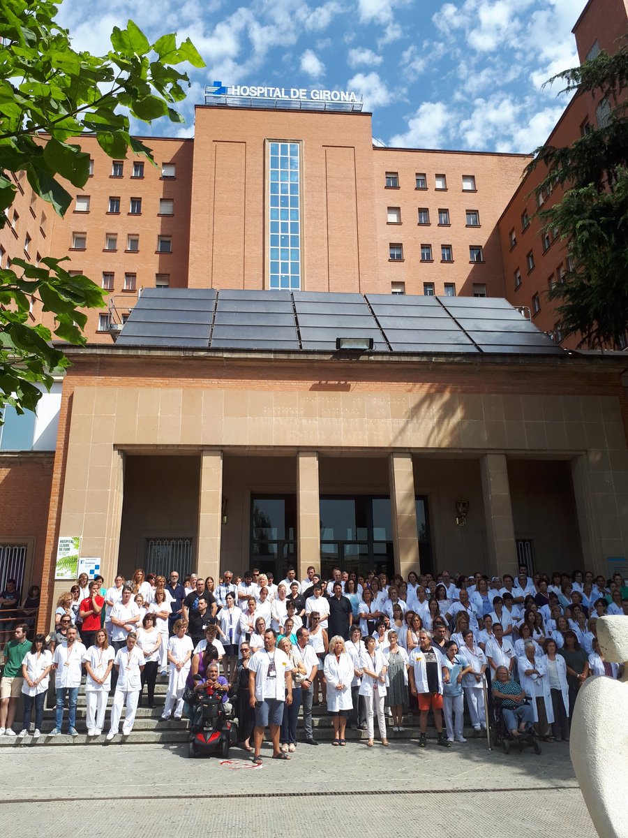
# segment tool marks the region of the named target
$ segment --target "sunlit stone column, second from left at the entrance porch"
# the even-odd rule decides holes
[[[310,565],[321,572],[321,510],[317,451],[296,454],[296,530],[298,566],[296,578],[306,577]]]

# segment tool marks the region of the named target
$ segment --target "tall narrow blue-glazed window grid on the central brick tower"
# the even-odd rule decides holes
[[[301,290],[301,144],[269,142],[269,287]]]

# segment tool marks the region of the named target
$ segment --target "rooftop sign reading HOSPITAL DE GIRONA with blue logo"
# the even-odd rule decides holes
[[[296,108],[310,111],[361,111],[362,96],[353,91],[307,90],[305,87],[233,85],[221,81],[205,88],[206,105]]]

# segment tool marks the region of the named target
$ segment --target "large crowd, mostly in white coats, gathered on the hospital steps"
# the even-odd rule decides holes
[[[589,677],[617,678],[622,668],[605,660],[596,620],[628,615],[628,587],[590,572],[517,577],[450,577],[449,572],[408,578],[369,572],[365,577],[335,568],[322,580],[313,566],[298,580],[290,568],[275,583],[258,570],[218,584],[195,574],[180,580],[136,570],[118,574],[111,587],[83,574],[59,597],[54,628],[34,634],[33,622],[16,618],[3,631],[0,735],[42,735],[44,703],[54,701],[54,728],[77,735],[76,706],[85,676],[88,735],[106,741],[128,735],[137,707],[155,708],[157,677],[167,677],[162,720],[192,712],[193,695],[208,686],[222,690],[238,720],[239,742],[261,760],[270,727],[273,758],[290,759],[302,711],[305,741],[317,745],[312,707],[332,716],[332,745],[347,745],[346,731],[367,731],[374,722],[389,747],[388,731],[404,731],[404,716],[419,716],[425,747],[432,713],[436,742],[464,743],[465,706],[480,733],[489,702],[502,707],[507,731],[522,736],[534,725],[546,741],[569,740],[579,688]],[[19,607],[14,581],[0,594]],[[33,602],[29,591],[29,602]],[[38,591],[39,594],[39,591]],[[1,613],[1,612],[0,612]],[[54,695],[53,695],[54,694]],[[19,697],[21,730],[13,730]],[[126,710],[125,710],[126,708]],[[122,711],[124,717],[122,716]],[[33,721],[34,714],[34,721]]]

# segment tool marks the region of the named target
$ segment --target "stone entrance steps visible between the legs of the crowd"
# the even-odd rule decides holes
[[[114,742],[116,743],[123,743],[123,744],[132,744],[132,745],[173,745],[176,746],[178,744],[182,744],[183,742],[188,741],[188,720],[182,719],[181,721],[177,721],[174,719],[170,719],[169,721],[165,722],[162,720],[161,715],[163,711],[164,701],[166,700],[166,691],[167,691],[167,679],[165,677],[158,676],[157,677],[157,685],[155,686],[155,703],[157,707],[152,710],[149,707],[138,707],[136,712],[135,724],[133,726],[133,731],[129,736],[122,736],[121,734],[116,737]],[[84,745],[102,745],[105,742],[106,733],[109,731],[109,712],[111,710],[111,702],[112,696],[109,696],[109,700],[107,701],[107,712],[105,716],[105,727],[104,732],[99,737],[88,737],[87,736],[87,725],[85,722],[86,718],[86,709],[85,709],[85,678],[83,679],[83,686],[81,686],[79,692],[79,700],[76,707],[76,730],[79,732],[79,736],[71,737],[66,733],[61,734],[60,736],[56,737],[49,737],[47,734],[53,729],[54,727],[54,708],[51,710],[44,710],[44,727],[42,730],[42,735],[39,739],[33,739],[32,735],[28,735],[23,738],[17,737],[8,737],[3,736],[0,737],[0,747],[10,747],[10,746],[20,746],[23,747],[25,745],[36,745],[37,747],[54,747],[54,746],[62,746],[62,745],[75,745],[75,744],[84,744]],[[67,716],[68,711],[67,707],[64,711],[64,731],[67,728]],[[18,710],[18,718],[21,719],[22,713],[21,708]],[[124,713],[122,715],[121,727],[122,722],[124,721]],[[34,723],[34,712],[32,716],[31,722],[31,730],[33,730],[33,723]],[[434,737],[435,731],[434,728],[431,727],[432,720],[430,714],[430,720],[428,722],[428,737]],[[390,719],[387,716],[386,719],[386,726],[388,728],[388,737],[391,742],[394,740],[404,740],[404,739],[417,739],[419,737],[419,716],[418,715],[406,715],[404,716],[404,731],[403,732],[394,732],[392,727],[390,727]],[[333,740],[333,725],[332,725],[332,718],[327,714],[327,710],[325,707],[313,707],[312,708],[312,727],[314,728],[314,737],[319,742],[332,742]],[[15,722],[13,725],[13,729],[16,733],[18,733],[22,729],[22,725],[20,722]],[[472,728],[466,727],[465,730],[466,737],[474,737],[479,736],[476,734]],[[482,733],[482,737],[486,737],[485,733]],[[375,738],[378,739],[378,727],[377,727],[377,720],[375,720]],[[299,715],[299,722],[297,727],[297,739],[300,742],[305,741],[305,732],[303,730],[303,720],[301,713]],[[361,739],[367,739],[367,732],[366,731],[350,731],[347,729],[347,740],[351,740],[357,742]],[[237,750],[237,749],[236,749]],[[243,752],[244,753],[244,752]]]

